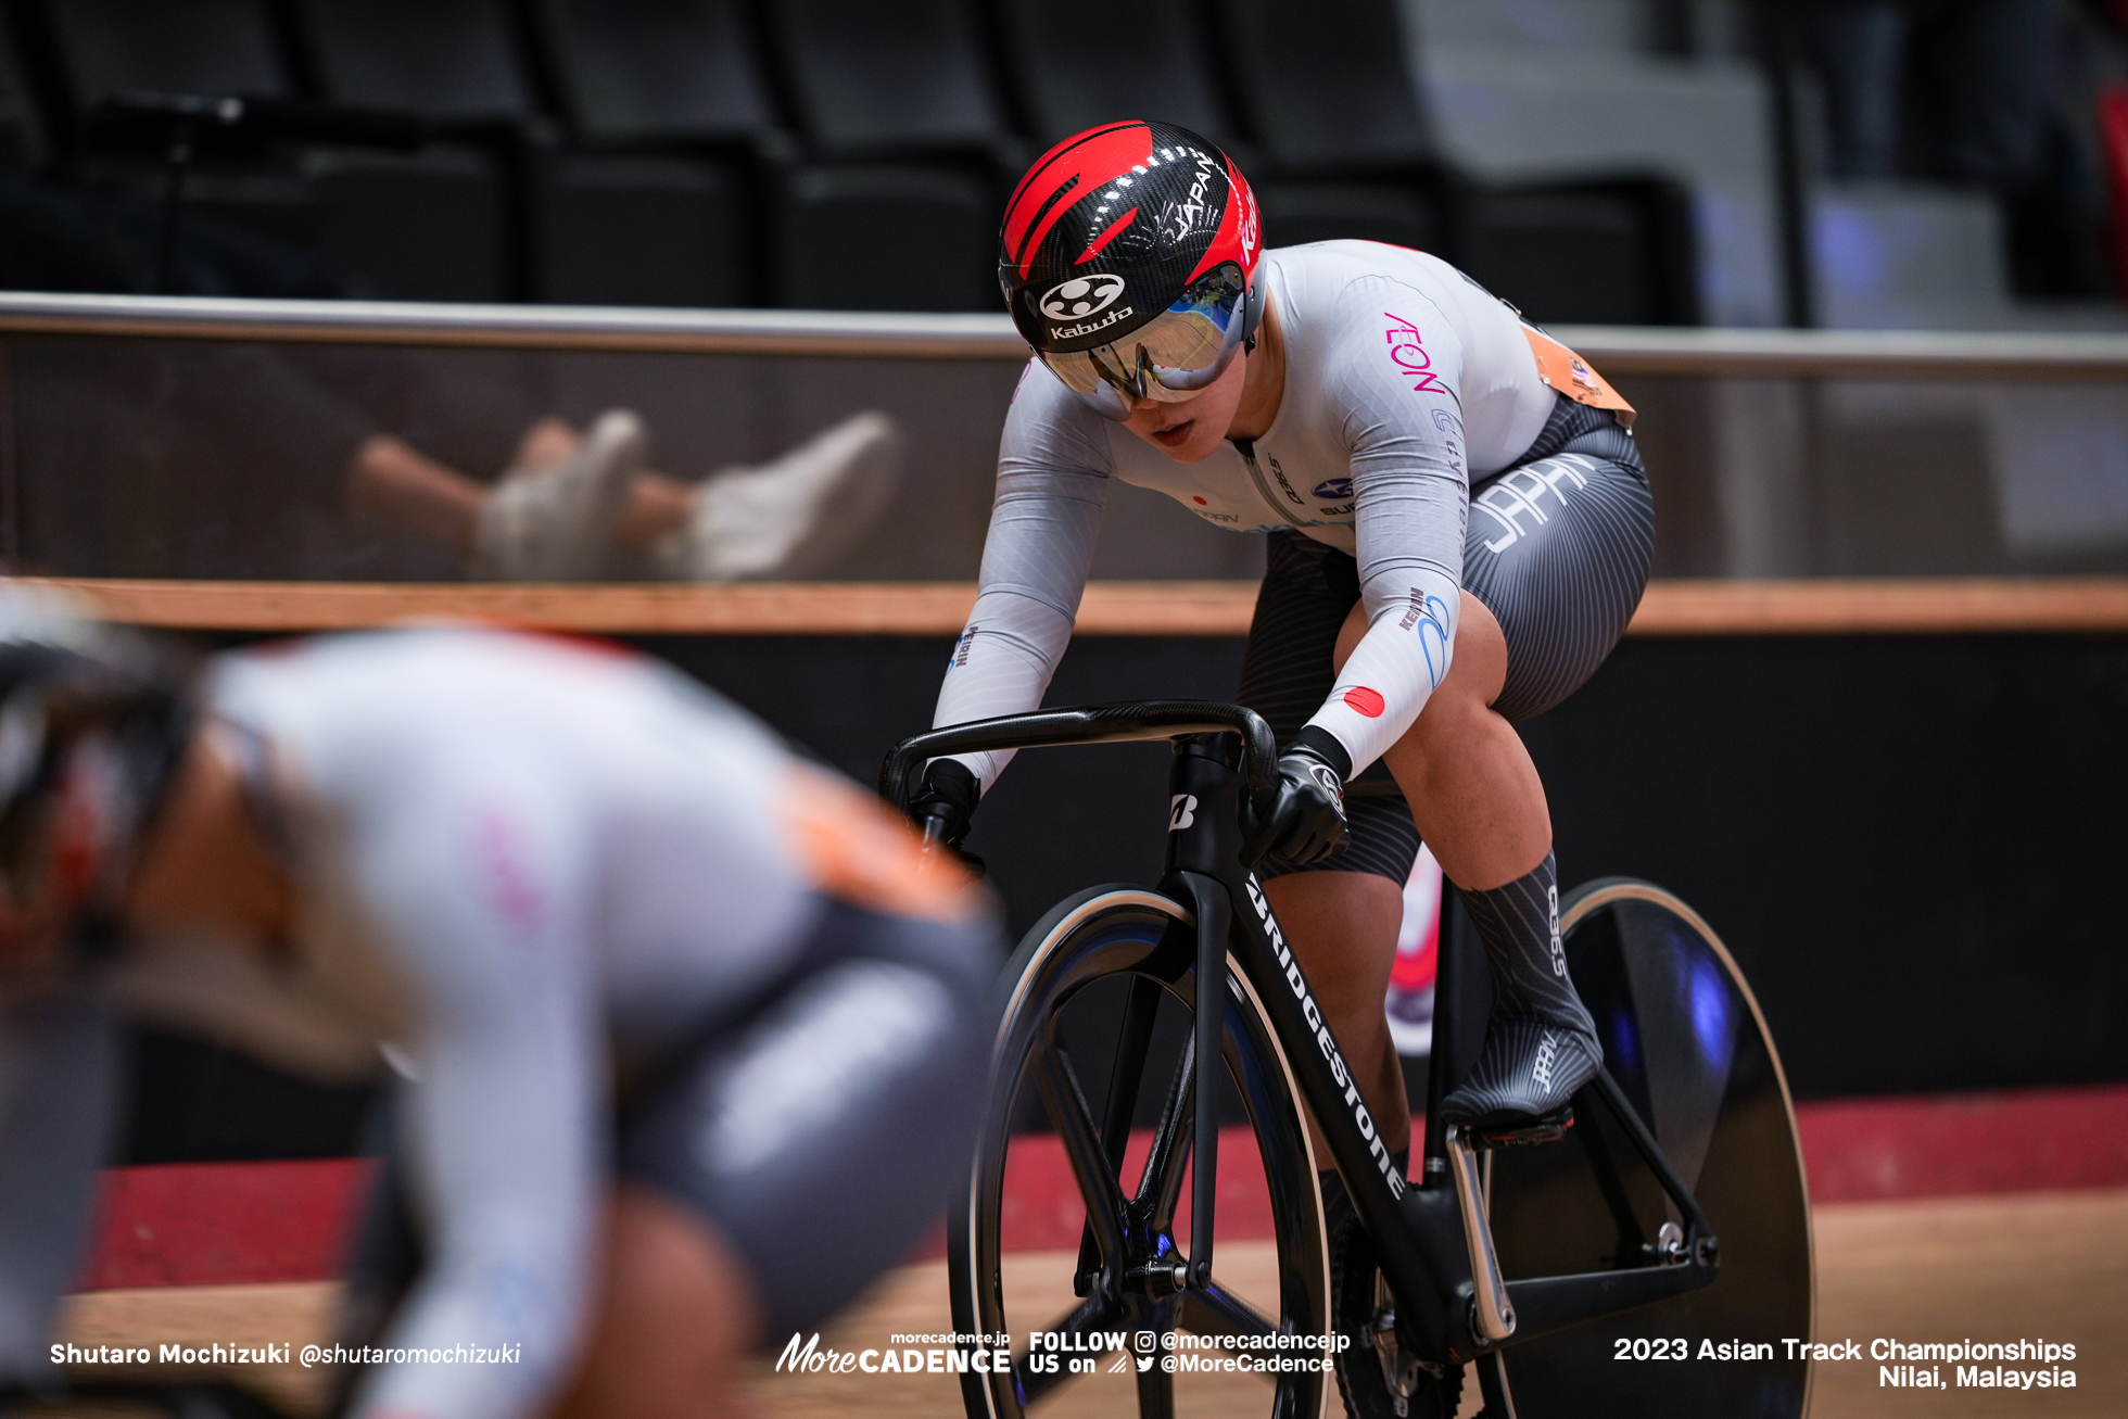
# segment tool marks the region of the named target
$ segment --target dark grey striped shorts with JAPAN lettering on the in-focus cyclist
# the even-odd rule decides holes
[[[1617,419],[1560,396],[1515,464],[1470,489],[1464,589],[1507,636],[1507,683],[1494,708],[1543,715],[1577,691],[1617,645],[1647,587],[1653,500],[1641,451]],[[1241,702],[1283,749],[1336,681],[1336,636],[1360,600],[1358,564],[1300,532],[1273,532],[1264,587],[1241,660]],[[1381,766],[1366,781],[1387,781]],[[1266,857],[1260,877],[1379,872],[1402,885],[1419,830],[1402,798],[1349,796],[1336,855],[1309,868]]]

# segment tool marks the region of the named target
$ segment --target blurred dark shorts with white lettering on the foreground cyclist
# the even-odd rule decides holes
[[[634,1070],[615,1172],[698,1215],[753,1274],[760,1342],[811,1330],[909,1259],[966,1185],[996,1038],[987,925],[832,898],[789,968]],[[355,1247],[343,1340],[375,1342],[426,1247],[385,1155]],[[343,1376],[343,1391],[355,1374]],[[338,1410],[334,1410],[338,1413]]]

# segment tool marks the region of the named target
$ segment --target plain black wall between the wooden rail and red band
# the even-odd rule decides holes
[[[641,638],[845,772],[930,723],[949,638]],[[1051,704],[1232,694],[1241,642],[1083,638]],[[1630,638],[1524,725],[1564,883],[1670,887],[1758,991],[1800,1098],[2128,1079],[2128,638]],[[1166,749],[1021,755],[983,804],[1017,938],[1151,883]],[[332,1153],[355,1094],[140,1036],[136,1162]]]

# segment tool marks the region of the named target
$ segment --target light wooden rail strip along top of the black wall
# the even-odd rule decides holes
[[[30,581],[30,579],[26,579]],[[541,630],[687,636],[951,636],[975,585],[483,585],[34,579],[102,615],[174,630],[306,632],[470,617]],[[1241,636],[1249,581],[1096,581],[1085,636]],[[2128,577],[1939,581],[1656,581],[1634,636],[2122,632]]]

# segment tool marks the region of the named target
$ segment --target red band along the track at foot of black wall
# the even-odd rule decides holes
[[[1832,1100],[1796,1119],[1813,1202],[2128,1185],[2128,1085]],[[1145,1147],[1136,1134],[1126,1179]],[[1247,1130],[1226,1130],[1219,1155],[1221,1236],[1270,1236]],[[115,1168],[81,1289],[336,1276],[368,1176],[360,1159]],[[1077,1247],[1083,1217],[1055,1138],[1021,1138],[1004,1185],[1007,1247]],[[1190,1225],[1187,1187],[1177,1225]]]

